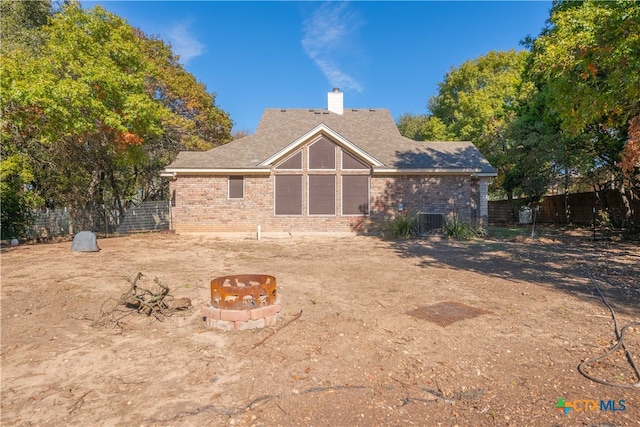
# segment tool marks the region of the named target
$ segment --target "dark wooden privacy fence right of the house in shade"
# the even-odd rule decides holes
[[[535,209],[536,222],[547,224],[593,224],[594,218],[602,219],[603,214],[614,226],[622,226],[626,221],[626,208],[619,191],[608,190],[599,193],[575,193],[545,196],[539,204],[528,206]],[[640,200],[630,200],[633,211],[633,223],[640,224]],[[489,202],[489,222],[493,224],[528,222],[521,221],[521,208],[526,208],[528,202],[521,199],[513,201],[497,200]],[[528,219],[528,218],[527,218]]]

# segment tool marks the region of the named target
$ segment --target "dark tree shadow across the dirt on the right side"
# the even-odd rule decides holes
[[[464,269],[514,282],[553,286],[572,295],[600,298],[620,313],[640,317],[640,247],[593,241],[587,236],[512,241],[443,238],[392,242],[402,258],[423,267]]]

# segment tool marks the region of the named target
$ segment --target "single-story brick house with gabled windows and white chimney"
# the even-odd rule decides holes
[[[386,109],[266,109],[256,133],[165,168],[177,233],[344,233],[398,211],[487,223],[495,169],[470,142],[414,141]],[[422,224],[422,223],[421,223]],[[425,223],[426,224],[426,223]]]

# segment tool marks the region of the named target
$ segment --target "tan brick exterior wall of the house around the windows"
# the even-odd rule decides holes
[[[340,174],[338,173],[338,177]],[[303,199],[306,180],[303,180]],[[274,215],[274,177],[244,177],[244,199],[228,198],[228,176],[181,176],[171,181],[174,194],[173,228],[177,233],[243,232],[352,232],[362,217],[340,214],[339,178],[334,216]],[[398,209],[409,212],[458,214],[476,221],[479,214],[479,180],[469,176],[372,176],[370,218],[380,221]],[[305,199],[306,200],[306,199]]]

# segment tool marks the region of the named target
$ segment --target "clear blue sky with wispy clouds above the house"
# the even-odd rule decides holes
[[[254,132],[265,108],[427,113],[452,68],[491,50],[520,50],[551,1],[83,1],[171,44],[234,121]]]

